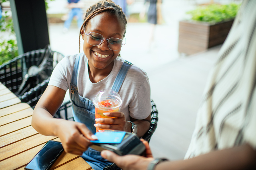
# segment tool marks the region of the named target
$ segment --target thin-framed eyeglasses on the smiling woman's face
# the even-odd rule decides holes
[[[85,32],[85,27],[83,27],[83,31]],[[102,44],[104,39],[106,39],[106,38],[103,37],[103,35],[95,33],[95,32],[90,32],[86,35],[88,36],[88,39],[87,39],[88,43],[93,45],[93,46],[98,46],[98,45]],[[109,38],[109,39],[106,39],[106,40],[107,40],[107,46],[109,46],[109,49],[113,50],[113,51],[120,50],[122,45],[126,44],[126,43],[123,42],[122,39],[119,39],[119,38],[113,38],[112,37],[112,38]]]

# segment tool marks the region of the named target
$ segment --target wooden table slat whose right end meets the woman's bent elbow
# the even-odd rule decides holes
[[[10,124],[0,126],[0,136],[20,130],[24,127],[31,126],[32,117],[24,118],[18,121],[14,121]]]

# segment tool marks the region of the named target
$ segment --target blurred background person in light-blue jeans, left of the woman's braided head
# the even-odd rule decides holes
[[[83,24],[83,3],[80,0],[68,0],[68,4],[66,6],[70,9],[70,12],[68,14],[68,18],[64,22],[64,28],[63,32],[67,32],[69,30],[69,27],[71,25],[71,22],[74,17],[77,18],[77,27],[80,28]]]

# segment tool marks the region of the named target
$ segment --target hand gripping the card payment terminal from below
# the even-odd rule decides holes
[[[101,156],[110,162],[115,162],[123,170],[146,170],[153,157],[149,143],[144,139],[141,139],[141,141],[146,147],[144,154],[147,158],[138,155],[119,156],[107,150],[101,151]]]

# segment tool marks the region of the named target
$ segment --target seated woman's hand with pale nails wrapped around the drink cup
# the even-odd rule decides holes
[[[126,121],[126,118],[122,112],[108,112],[103,113],[103,115],[115,118],[95,119],[95,121],[98,122],[97,124],[94,124],[95,127],[101,129],[111,129],[130,132],[132,125],[131,123]]]

